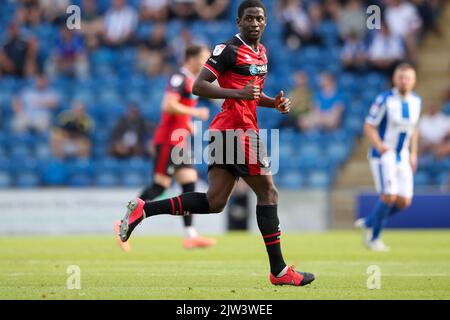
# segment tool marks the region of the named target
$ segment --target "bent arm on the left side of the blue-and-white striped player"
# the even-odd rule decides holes
[[[370,107],[369,115],[364,124],[364,133],[369,139],[372,146],[381,154],[389,151],[390,148],[386,146],[378,133],[378,126],[386,114],[386,105],[382,96],[377,97],[375,102]]]

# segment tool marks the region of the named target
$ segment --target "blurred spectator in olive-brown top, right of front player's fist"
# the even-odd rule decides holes
[[[313,110],[312,91],[309,87],[308,75],[298,71],[294,75],[295,87],[288,94],[291,100],[291,112],[282,118],[280,128],[301,128],[301,117]]]

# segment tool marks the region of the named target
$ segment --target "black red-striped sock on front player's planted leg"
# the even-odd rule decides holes
[[[277,205],[256,206],[256,221],[269,255],[270,272],[275,277],[286,267],[281,253],[281,230],[277,208]]]

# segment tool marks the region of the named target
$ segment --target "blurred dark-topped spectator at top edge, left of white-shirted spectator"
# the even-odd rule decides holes
[[[103,29],[103,18],[95,0],[83,0],[81,6],[81,33],[88,49],[98,47],[99,37]]]

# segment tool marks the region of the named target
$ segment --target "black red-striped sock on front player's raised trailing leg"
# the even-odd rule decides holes
[[[188,192],[177,197],[160,201],[147,201],[144,205],[145,217],[159,214],[174,216],[190,215],[191,213],[210,213],[206,193]]]

